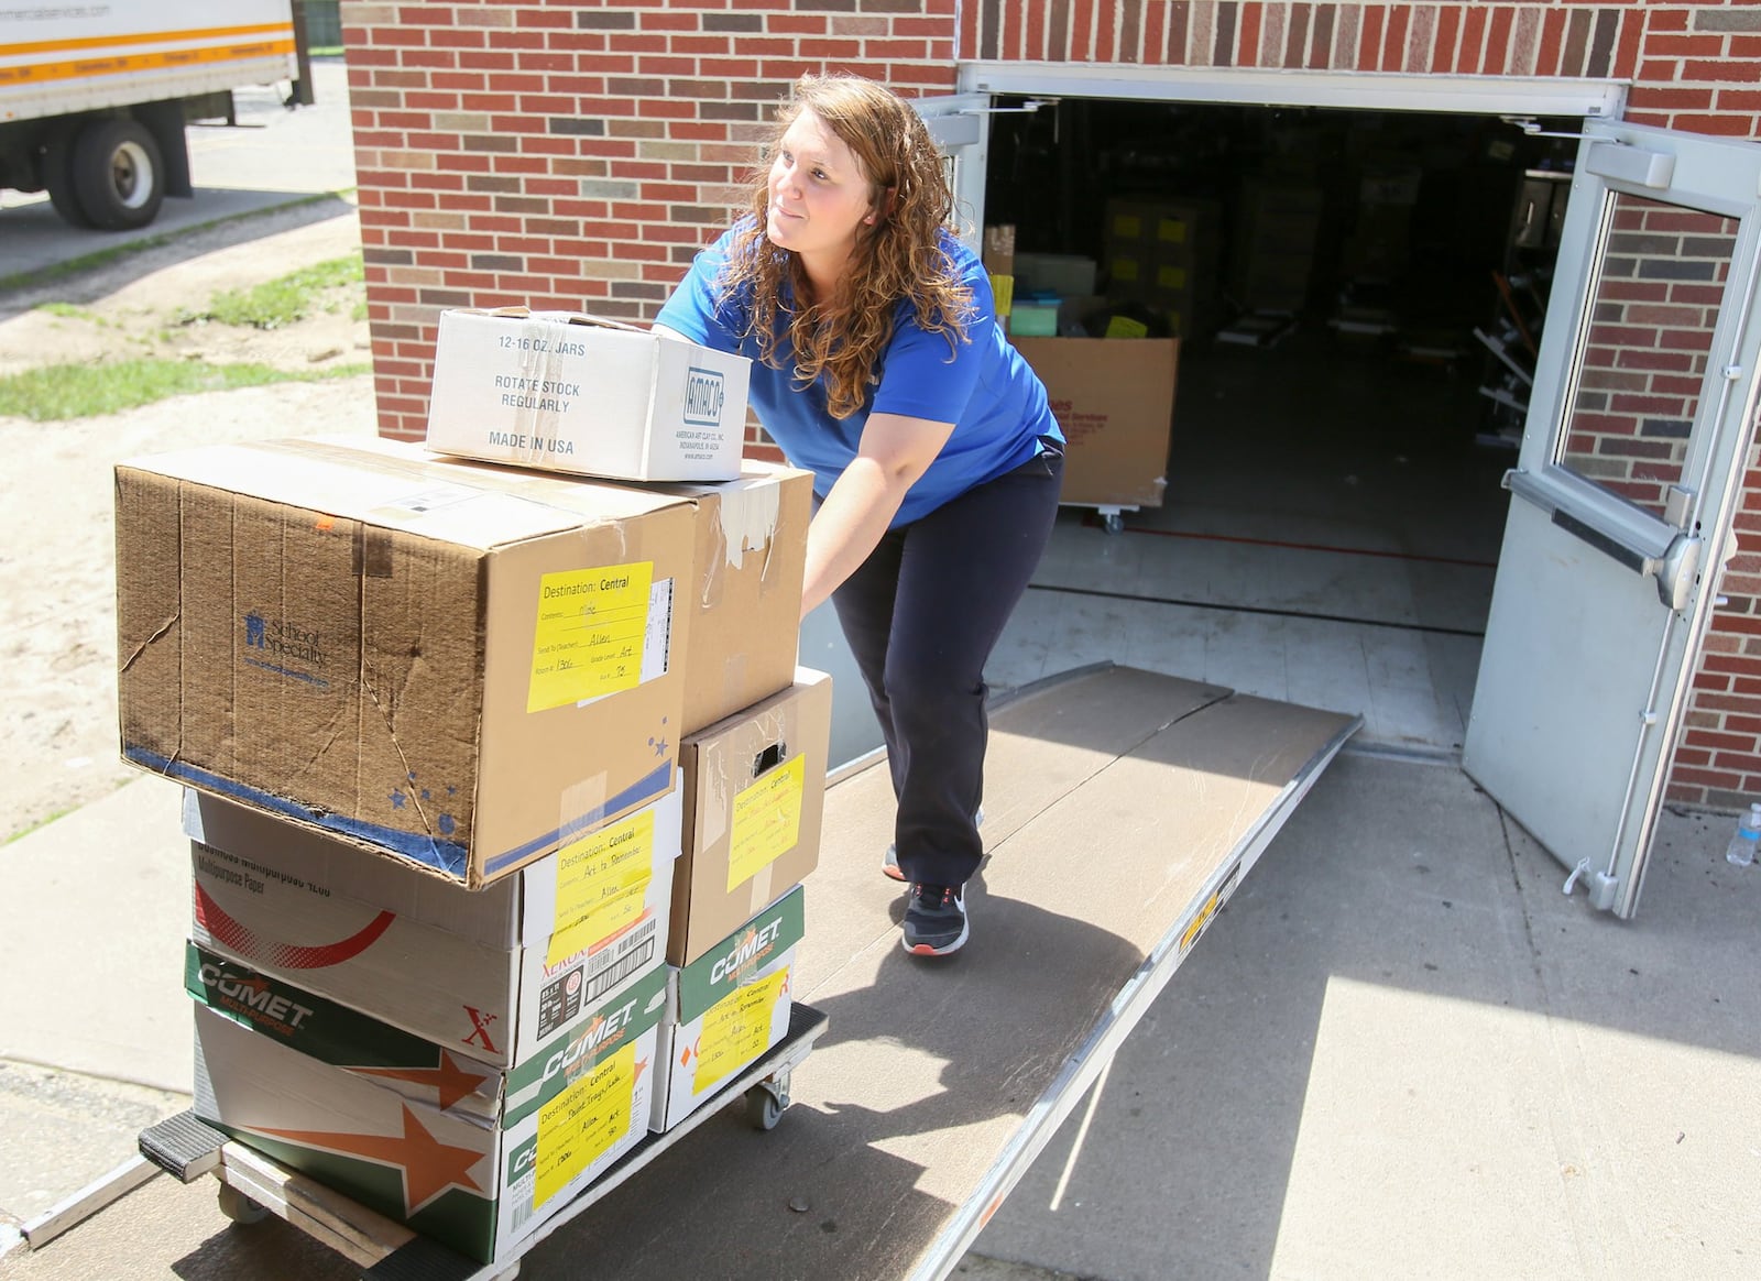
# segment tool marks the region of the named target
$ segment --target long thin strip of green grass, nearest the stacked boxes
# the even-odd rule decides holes
[[[0,417],[60,422],[88,419],[167,396],[190,396],[275,382],[321,382],[368,373],[365,364],[329,370],[275,370],[268,364],[204,364],[143,357],[102,364],[48,364],[0,378]]]

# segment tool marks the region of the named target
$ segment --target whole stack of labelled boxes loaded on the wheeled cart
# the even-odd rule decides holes
[[[743,424],[738,357],[447,313],[433,443],[497,461],[116,468],[197,1116],[498,1262],[784,1036],[831,695],[794,665],[810,477]]]

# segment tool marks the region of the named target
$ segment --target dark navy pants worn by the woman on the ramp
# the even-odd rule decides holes
[[[983,845],[984,663],[1051,537],[1064,458],[1041,454],[889,530],[833,593],[886,737],[909,882],[963,885]]]

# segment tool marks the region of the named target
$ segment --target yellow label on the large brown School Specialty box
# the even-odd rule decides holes
[[[641,684],[653,572],[653,561],[639,561],[539,581],[528,713]]]

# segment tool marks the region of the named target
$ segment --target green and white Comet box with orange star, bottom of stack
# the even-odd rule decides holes
[[[648,1131],[666,971],[498,1072],[192,948],[195,1114],[483,1260]]]

